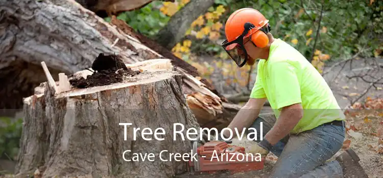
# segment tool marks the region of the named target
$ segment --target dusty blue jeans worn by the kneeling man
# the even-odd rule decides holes
[[[276,121],[274,114],[267,114],[259,114],[250,127],[259,131],[262,122],[262,134],[266,135]],[[270,177],[343,177],[338,161],[326,161],[342,148],[344,138],[345,127],[334,125],[286,136],[270,150],[278,157]]]

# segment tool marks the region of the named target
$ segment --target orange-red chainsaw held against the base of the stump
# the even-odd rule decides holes
[[[193,173],[217,173],[229,171],[231,174],[264,168],[265,158],[246,154],[242,146],[230,145],[231,141],[210,141],[198,146],[193,142],[193,153],[197,161],[188,161],[188,171]]]

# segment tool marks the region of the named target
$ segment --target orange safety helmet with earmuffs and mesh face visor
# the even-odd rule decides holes
[[[268,45],[270,32],[269,20],[259,11],[252,8],[238,9],[233,12],[226,21],[226,40],[221,46],[239,67],[246,64],[248,54],[243,44],[245,38],[257,47],[263,48]]]

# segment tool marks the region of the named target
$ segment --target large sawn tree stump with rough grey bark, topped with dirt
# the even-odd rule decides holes
[[[75,74],[86,75],[89,71]],[[16,173],[26,175],[36,168],[42,177],[92,175],[93,177],[171,177],[185,170],[185,162],[161,161],[170,153],[190,153],[190,141],[176,135],[174,123],[199,128],[182,93],[182,75],[169,70],[143,71],[123,82],[89,88],[71,88],[55,93],[41,84],[43,94],[23,101],[25,115]],[[124,140],[124,126],[127,140]],[[133,128],[140,128],[134,140]],[[165,133],[153,133],[163,128]],[[180,127],[176,128],[181,130]],[[160,133],[160,132],[159,132]],[[133,153],[153,153],[154,161],[125,161]]]

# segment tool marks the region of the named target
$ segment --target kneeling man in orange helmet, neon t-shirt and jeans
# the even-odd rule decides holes
[[[226,22],[222,47],[238,67],[260,59],[250,99],[228,128],[259,132],[262,123],[266,135],[249,152],[278,156],[272,177],[368,177],[351,149],[326,162],[343,145],[345,116],[320,73],[295,48],[274,39],[268,22],[250,8]],[[272,116],[259,114],[266,99]],[[226,129],[222,134],[230,137]]]

